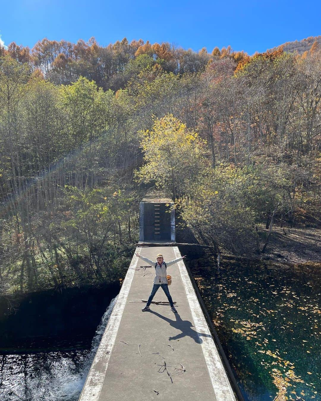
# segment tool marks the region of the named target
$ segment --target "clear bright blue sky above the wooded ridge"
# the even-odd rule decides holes
[[[321,34],[321,2],[13,0],[1,6],[5,45],[33,47],[44,37],[106,46],[124,36],[211,52],[231,45],[248,54]]]

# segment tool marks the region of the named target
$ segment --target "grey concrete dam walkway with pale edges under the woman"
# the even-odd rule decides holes
[[[177,247],[137,247],[165,262],[181,257]],[[133,256],[79,401],[236,400],[199,301],[181,260],[167,268],[178,313],[151,304],[154,266]],[[153,301],[167,301],[160,288]]]

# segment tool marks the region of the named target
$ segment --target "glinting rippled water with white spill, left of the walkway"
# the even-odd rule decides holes
[[[77,400],[116,299],[102,317],[89,350],[0,355],[0,400]]]

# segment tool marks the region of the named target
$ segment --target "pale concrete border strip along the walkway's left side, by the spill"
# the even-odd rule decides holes
[[[138,251],[138,248],[135,249],[135,252]],[[96,401],[99,399],[138,260],[139,258],[134,255],[130,262],[118,299],[108,320],[78,401]]]

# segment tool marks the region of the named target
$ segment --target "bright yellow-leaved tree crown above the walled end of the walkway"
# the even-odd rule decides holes
[[[174,199],[186,193],[205,167],[205,142],[172,114],[154,119],[152,130],[141,134],[146,164],[136,172],[138,180],[170,188]]]

